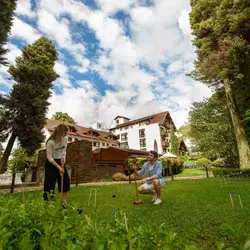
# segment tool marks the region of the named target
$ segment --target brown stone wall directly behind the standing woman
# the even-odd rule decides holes
[[[37,182],[44,181],[46,151],[40,150],[37,161]],[[71,166],[71,183],[91,182],[97,178],[96,164],[92,164],[92,143],[79,140],[68,143],[66,165]]]

